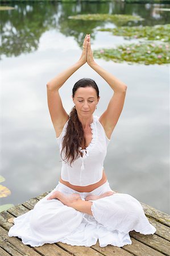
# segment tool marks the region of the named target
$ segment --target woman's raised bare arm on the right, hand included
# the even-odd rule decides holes
[[[88,41],[87,63],[94,69],[103,79],[110,85],[114,93],[110,99],[109,105],[105,112],[99,118],[103,128],[105,129],[107,137],[110,139],[111,133],[114,130],[115,125],[118,122],[121,115],[123,105],[125,102],[127,85],[118,80],[117,77],[107,72],[100,67],[93,59],[93,52],[90,46],[90,40]]]

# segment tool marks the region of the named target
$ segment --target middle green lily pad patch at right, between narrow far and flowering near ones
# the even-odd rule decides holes
[[[170,24],[156,25],[153,27],[116,27],[101,28],[100,31],[110,31],[113,35],[124,36],[125,39],[144,38],[146,40],[161,40],[163,42],[170,41]]]

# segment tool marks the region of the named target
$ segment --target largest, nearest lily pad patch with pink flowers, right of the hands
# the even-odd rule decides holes
[[[157,43],[157,42],[156,42]],[[153,42],[139,42],[117,48],[102,48],[93,51],[94,57],[113,60],[116,63],[127,61],[128,64],[168,64],[170,63],[170,44]]]

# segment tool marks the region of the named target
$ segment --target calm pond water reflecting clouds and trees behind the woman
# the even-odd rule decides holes
[[[92,49],[132,42],[97,31],[114,23],[68,16],[132,14],[144,18],[136,25],[154,26],[170,23],[168,11],[156,10],[170,5],[14,2],[11,6],[15,9],[1,11],[1,175],[6,179],[1,184],[11,191],[1,204],[16,205],[53,189],[59,181],[61,162],[48,111],[47,82],[79,59],[85,34],[91,34]],[[169,65],[96,62],[128,86],[104,164],[110,187],[170,213]],[[97,82],[101,99],[94,114],[101,115],[113,90],[88,64],[60,89],[64,108],[70,112],[72,87],[82,77]]]

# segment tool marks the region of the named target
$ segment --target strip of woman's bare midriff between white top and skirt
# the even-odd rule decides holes
[[[68,181],[64,181],[61,179],[60,176],[60,180],[61,183],[63,183],[64,185],[67,185],[67,187],[72,188],[74,190],[76,190],[77,192],[91,192],[94,189],[98,188],[99,186],[101,186],[102,184],[104,184],[107,181],[107,177],[105,174],[105,171],[103,169],[103,175],[102,175],[102,179],[99,180],[97,183],[88,185],[88,186],[76,186],[76,185],[72,185],[71,183],[69,183]]]

